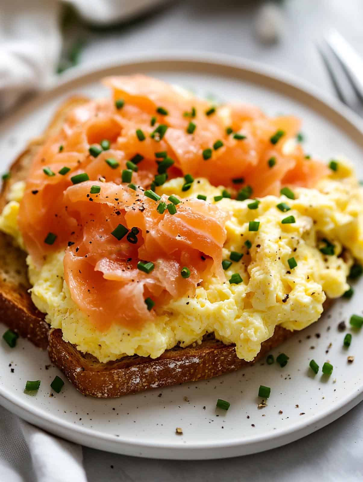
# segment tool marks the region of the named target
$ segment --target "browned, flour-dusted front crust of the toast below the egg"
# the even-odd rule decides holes
[[[81,354],[70,343],[65,343],[61,330],[52,330],[48,352],[52,362],[81,393],[108,398],[148,388],[205,380],[239,370],[254,364],[293,333],[276,326],[274,335],[262,344],[253,362],[238,358],[234,345],[224,345],[211,337],[195,347],[166,350],[155,360],[134,356],[100,363],[90,355]]]

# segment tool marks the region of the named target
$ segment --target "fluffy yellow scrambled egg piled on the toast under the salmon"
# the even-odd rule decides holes
[[[223,189],[201,178],[183,192],[183,183],[182,178],[173,179],[159,187],[159,193],[181,197],[204,194],[208,201],[215,202],[214,196]],[[20,183],[13,185],[0,216],[0,229],[20,246],[16,217],[23,188]],[[352,256],[363,261],[363,192],[348,163],[340,161],[338,172],[316,188],[296,187],[294,193],[295,200],[285,196],[262,198],[254,210],[248,208],[251,200],[218,201],[218,206],[231,215],[226,224],[224,258],[237,251],[243,253],[242,259],[232,262],[225,271],[225,281],[203,281],[194,297],[184,296],[156,307],[155,320],[141,330],[130,331],[118,324],[105,332],[94,328],[70,297],[64,281],[64,252],[48,256],[40,270],[28,256],[32,300],[47,313],[46,320],[52,327],[62,329],[66,341],[101,362],[135,353],[156,358],[178,342],[183,347],[200,343],[210,332],[226,344],[235,343],[240,358],[253,360],[276,325],[301,330],[317,321],[326,296],[335,298],[348,290]],[[277,209],[281,202],[291,210],[283,213]],[[296,223],[282,224],[288,215],[293,215]],[[249,221],[260,222],[258,231],[249,231]],[[324,239],[334,244],[333,255],[320,251],[326,245]],[[343,248],[349,251],[343,252]],[[295,268],[288,264],[292,257]],[[243,282],[230,284],[233,273],[239,273]]]

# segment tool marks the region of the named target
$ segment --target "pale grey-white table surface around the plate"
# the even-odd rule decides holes
[[[363,53],[362,0],[285,0],[284,34],[273,45],[254,32],[257,0],[180,0],[132,25],[81,29],[81,64],[158,49],[229,53],[287,71],[334,95],[315,41],[336,27]],[[73,34],[74,35],[74,34]],[[73,37],[72,35],[72,37]],[[304,439],[262,454],[214,461],[138,459],[83,448],[89,482],[358,481],[363,479],[363,404]]]

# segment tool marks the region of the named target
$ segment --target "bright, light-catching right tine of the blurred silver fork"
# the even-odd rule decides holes
[[[336,30],[332,30],[325,41],[343,67],[355,93],[363,103],[363,60]]]

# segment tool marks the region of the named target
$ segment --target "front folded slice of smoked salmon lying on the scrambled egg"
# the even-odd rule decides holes
[[[100,192],[90,194],[95,186]],[[175,214],[161,213],[160,203],[170,204],[166,196],[155,201],[142,189],[93,181],[68,187],[64,198],[68,215],[82,226],[66,250],[65,280],[99,329],[150,320],[145,299],[193,295],[206,275],[222,274],[229,215],[213,204],[187,199]],[[153,265],[150,272],[140,270],[140,260]],[[188,277],[181,275],[184,267]]]

